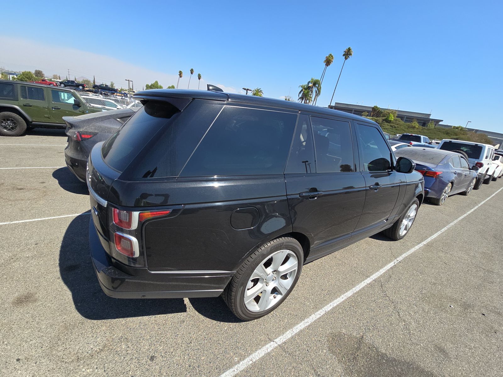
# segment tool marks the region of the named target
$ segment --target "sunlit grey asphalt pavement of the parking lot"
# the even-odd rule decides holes
[[[305,265],[280,308],[241,322],[220,298],[101,291],[65,144],[61,130],[0,137],[0,375],[503,375],[503,180],[423,204],[401,241],[376,235]]]

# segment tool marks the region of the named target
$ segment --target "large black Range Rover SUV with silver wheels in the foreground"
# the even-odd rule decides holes
[[[222,295],[256,319],[303,264],[403,238],[423,201],[423,176],[368,119],[219,91],[134,98],[144,106],[88,162],[91,254],[111,297]]]

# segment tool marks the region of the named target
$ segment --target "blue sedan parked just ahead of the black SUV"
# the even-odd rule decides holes
[[[395,156],[415,162],[415,169],[425,177],[425,197],[437,206],[443,205],[450,195],[470,194],[475,185],[478,168],[470,168],[460,153],[410,147],[395,151]]]

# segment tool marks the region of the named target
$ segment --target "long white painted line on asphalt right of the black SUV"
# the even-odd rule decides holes
[[[349,290],[344,295],[342,295],[339,298],[337,298],[336,300],[332,301],[330,304],[328,304],[324,308],[318,310],[316,313],[314,313],[312,316],[310,316],[309,318],[307,318],[304,321],[302,321],[301,323],[299,323],[297,326],[292,327],[290,330],[288,330],[286,333],[284,333],[280,337],[278,337],[275,340],[273,340],[271,343],[265,345],[264,347],[262,347],[261,349],[259,349],[255,353],[253,353],[253,354],[249,355],[248,357],[246,357],[239,364],[236,364],[235,366],[233,366],[232,368],[230,368],[229,370],[227,370],[226,372],[224,372],[223,374],[221,374],[220,377],[232,377],[232,376],[236,375],[237,373],[239,373],[241,370],[245,369],[247,366],[253,364],[255,361],[257,361],[258,359],[260,359],[262,356],[266,355],[268,352],[272,351],[274,348],[276,348],[277,346],[279,346],[281,343],[287,341],[292,336],[294,336],[295,334],[297,334],[300,330],[302,330],[305,327],[309,326],[311,323],[313,323],[314,321],[316,321],[323,314],[327,313],[328,311],[330,311],[331,309],[333,309],[334,307],[336,307],[337,305],[339,305],[340,303],[342,303],[344,300],[346,300],[347,298],[353,296],[355,293],[357,293],[358,291],[360,291],[363,287],[365,287],[366,285],[370,284],[373,280],[375,280],[376,278],[378,278],[379,276],[381,276],[384,272],[386,272],[388,269],[390,269],[395,264],[397,264],[398,262],[400,262],[403,258],[405,258],[406,256],[412,254],[417,249],[425,246],[428,242],[430,242],[430,241],[434,240],[435,238],[437,238],[438,236],[440,236],[447,229],[449,229],[454,224],[456,224],[457,222],[459,222],[460,220],[464,219],[466,216],[468,216],[469,214],[471,214],[473,211],[475,211],[477,208],[479,208],[481,205],[483,205],[489,199],[491,199],[492,197],[494,197],[501,190],[503,190],[503,187],[501,187],[501,189],[499,189],[494,194],[492,194],[489,198],[487,198],[486,200],[482,201],[481,203],[479,203],[478,205],[476,205],[475,207],[473,207],[470,211],[468,211],[467,213],[465,213],[463,216],[458,217],[452,223],[450,223],[446,227],[444,227],[441,230],[439,230],[437,233],[435,233],[430,238],[427,238],[426,240],[424,240],[420,244],[414,246],[409,251],[407,251],[406,253],[400,255],[398,258],[396,258],[395,260],[393,260],[391,263],[389,263],[388,265],[386,265],[383,268],[381,268],[379,271],[377,271],[376,273],[374,273],[372,276],[370,276],[367,279],[363,280],[359,285],[357,285],[353,289]]]

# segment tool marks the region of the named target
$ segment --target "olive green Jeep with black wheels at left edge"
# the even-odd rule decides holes
[[[0,135],[21,136],[36,127],[65,128],[63,117],[105,111],[88,106],[75,90],[0,80]]]

